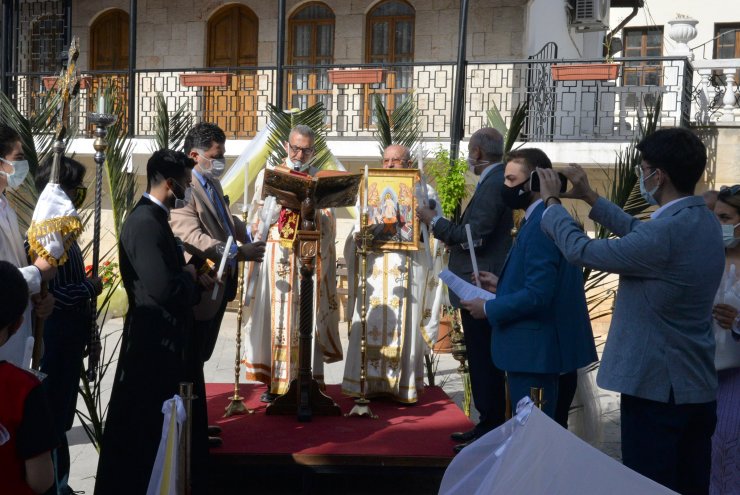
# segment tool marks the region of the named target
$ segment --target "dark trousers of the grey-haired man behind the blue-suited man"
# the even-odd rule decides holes
[[[491,327],[488,321],[476,320],[464,309],[460,309],[460,315],[468,354],[473,402],[480,414],[475,429],[479,435],[484,435],[505,421],[506,378],[504,372],[493,365]]]

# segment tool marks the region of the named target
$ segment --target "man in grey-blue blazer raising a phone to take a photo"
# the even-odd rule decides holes
[[[600,198],[577,165],[569,197],[619,238],[587,237],[560,206],[556,172],[539,170],[542,229],[571,263],[619,274],[599,386],[622,393],[622,460],[680,493],[707,493],[716,423],[712,304],[724,270],[722,235],[693,196],[706,149],[690,131],[664,129],[637,147],[640,191],[660,205],[641,222]]]

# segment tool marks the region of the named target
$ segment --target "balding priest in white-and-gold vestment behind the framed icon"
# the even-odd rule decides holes
[[[411,163],[408,148],[390,145],[383,153],[383,168],[408,168]],[[436,192],[427,186],[430,200],[442,211]],[[352,232],[347,239],[344,256],[347,260],[349,301],[352,325],[347,348],[342,391],[360,395],[360,365],[362,323],[361,301],[357,274],[361,269],[356,256],[356,240]],[[367,371],[365,395],[390,396],[414,403],[424,389],[424,354],[437,340],[442,284],[437,274],[442,270],[443,245],[431,240],[430,269],[425,247],[418,251],[385,251],[367,257],[365,280],[367,293]]]

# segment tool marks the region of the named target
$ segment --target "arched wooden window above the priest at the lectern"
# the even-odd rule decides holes
[[[288,21],[288,64],[315,66],[334,62],[334,12],[325,4],[300,7]],[[321,101],[331,110],[327,69],[296,69],[288,75],[288,101],[304,109]]]

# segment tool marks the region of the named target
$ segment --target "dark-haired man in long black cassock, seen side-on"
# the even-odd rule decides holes
[[[147,163],[147,192],[121,229],[119,263],[129,300],[98,463],[95,493],[146,493],[162,432],[162,403],[189,364],[188,331],[200,290],[196,269],[167,222],[190,196],[193,161],[172,150]]]

